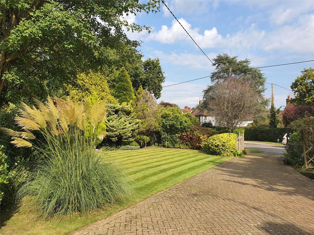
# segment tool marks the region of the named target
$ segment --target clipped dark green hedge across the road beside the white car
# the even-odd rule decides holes
[[[281,142],[284,134],[288,132],[288,128],[246,127],[244,140],[277,142],[279,139]]]

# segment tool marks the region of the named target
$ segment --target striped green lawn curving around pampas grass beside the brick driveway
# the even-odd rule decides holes
[[[35,219],[32,213],[17,213],[8,219],[8,215],[2,212],[1,220],[8,220],[4,222],[0,234],[68,234],[230,159],[198,150],[158,147],[111,151],[105,157],[115,161],[128,175],[131,193],[121,204],[107,206],[88,216],[76,215],[61,221]]]

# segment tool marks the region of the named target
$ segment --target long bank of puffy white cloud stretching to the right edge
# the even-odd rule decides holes
[[[181,18],[179,21],[201,48],[222,48],[238,52],[252,49],[284,50],[287,53],[314,52],[314,14],[300,16],[294,24],[272,31],[261,30],[257,24],[251,24],[248,29],[232,35],[227,34],[225,37],[219,34],[215,27],[199,34],[199,29],[192,28],[185,19]],[[176,20],[172,21],[170,28],[162,25],[161,29],[153,32],[147,40],[156,40],[164,44],[173,44],[176,41],[193,43]]]

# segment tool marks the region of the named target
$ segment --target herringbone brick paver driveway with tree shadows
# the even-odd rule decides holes
[[[246,156],[73,234],[314,234],[313,199],[279,156]]]

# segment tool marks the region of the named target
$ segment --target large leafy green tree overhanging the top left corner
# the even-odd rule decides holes
[[[125,16],[160,7],[157,0],[3,0],[0,4],[0,105],[43,96],[47,84],[63,84],[103,67],[112,49],[138,45],[127,39],[124,27],[149,29],[128,24]]]

